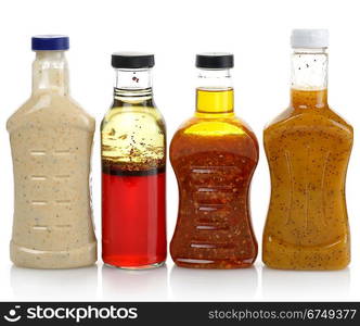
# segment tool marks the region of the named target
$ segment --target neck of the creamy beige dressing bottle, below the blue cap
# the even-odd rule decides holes
[[[37,51],[33,63],[33,93],[69,92],[68,66],[64,51]]]

